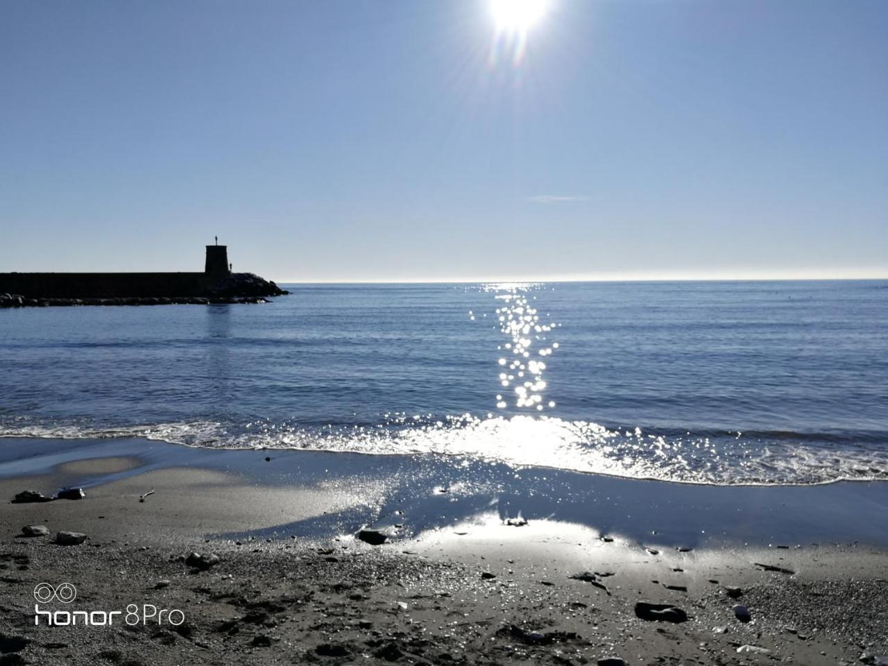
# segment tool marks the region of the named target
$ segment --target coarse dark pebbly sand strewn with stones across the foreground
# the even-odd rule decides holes
[[[173,551],[7,539],[0,548],[0,647],[15,656],[0,663],[702,665],[792,656],[836,664],[865,651],[884,654],[888,635],[884,581],[801,583],[762,574],[766,584],[744,585],[753,621],[742,623],[733,599],[710,583],[702,594],[693,585],[678,592],[653,583],[643,592],[619,568],[583,572],[579,581],[568,572],[546,580],[533,563],[496,569],[491,578],[477,566],[357,539],[313,546],[246,551],[213,543],[218,561],[201,567],[193,565],[202,556],[188,553],[207,551],[206,543]],[[583,581],[606,575],[612,596]],[[78,609],[151,604],[181,609],[185,619],[86,631],[36,627],[32,591],[46,581],[74,582]],[[642,593],[657,597],[639,615]]]

